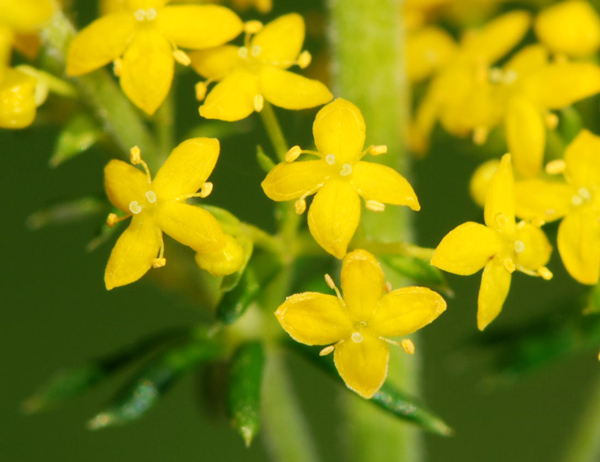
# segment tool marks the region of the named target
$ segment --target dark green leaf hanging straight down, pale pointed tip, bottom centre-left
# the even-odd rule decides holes
[[[258,342],[238,347],[231,359],[227,410],[231,424],[244,439],[246,447],[260,430],[260,393],[265,351]]]

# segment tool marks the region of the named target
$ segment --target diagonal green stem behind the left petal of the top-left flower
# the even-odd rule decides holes
[[[60,8],[42,30],[45,49],[44,64],[47,70],[65,76],[65,64],[69,45],[76,31]],[[114,79],[105,70],[97,70],[71,81],[79,90],[82,101],[92,108],[104,131],[122,149],[126,158],[133,146],[139,146],[147,160],[155,156],[155,142],[148,128],[122,93]]]

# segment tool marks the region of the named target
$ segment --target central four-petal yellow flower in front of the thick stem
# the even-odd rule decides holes
[[[363,162],[367,154],[383,154],[385,146],[363,151],[365,121],[352,103],[337,99],[319,111],[313,125],[318,151],[295,146],[283,162],[262,183],[274,201],[296,200],[296,211],[304,212],[305,198],[316,196],[308,212],[308,226],[315,240],[327,252],[342,258],[358,227],[360,197],[368,209],[382,211],[384,204],[407,205],[419,210],[419,201],[406,179],[390,167]],[[294,162],[300,154],[318,160]]]

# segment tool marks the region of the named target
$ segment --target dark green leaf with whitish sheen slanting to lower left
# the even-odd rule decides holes
[[[124,425],[143,417],[179,378],[223,353],[223,346],[203,332],[150,359],[114,403],[88,422],[88,428]]]

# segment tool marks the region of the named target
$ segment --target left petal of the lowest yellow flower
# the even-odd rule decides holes
[[[306,345],[336,343],[352,333],[352,324],[337,297],[316,292],[292,295],[275,312],[281,327]]]

